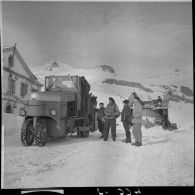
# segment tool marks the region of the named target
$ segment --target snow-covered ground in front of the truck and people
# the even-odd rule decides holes
[[[121,142],[121,124],[116,142],[94,132],[89,138],[72,135],[45,147],[24,147],[14,128],[21,122],[12,120],[14,127],[5,131],[4,187],[194,185],[194,124],[186,116],[185,124],[176,116],[176,131],[142,127],[142,147]]]

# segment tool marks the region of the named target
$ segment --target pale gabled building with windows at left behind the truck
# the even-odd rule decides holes
[[[3,48],[1,67],[2,111],[20,115],[27,95],[43,86],[31,72],[16,46]]]

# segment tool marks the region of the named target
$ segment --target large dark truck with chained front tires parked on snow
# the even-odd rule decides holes
[[[85,77],[46,76],[45,89],[32,92],[26,102],[21,142],[44,146],[48,139],[77,133],[86,138],[95,131],[96,97]]]

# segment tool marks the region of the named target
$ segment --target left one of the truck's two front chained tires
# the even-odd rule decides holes
[[[25,119],[21,129],[21,142],[24,146],[31,146],[34,142],[33,120]]]

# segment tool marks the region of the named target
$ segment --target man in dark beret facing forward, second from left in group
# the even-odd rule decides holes
[[[104,141],[107,141],[109,130],[111,127],[112,139],[115,141],[116,139],[116,118],[120,116],[120,112],[118,106],[116,105],[113,98],[109,98],[109,104],[105,109],[105,132],[104,132]]]

